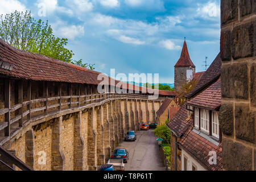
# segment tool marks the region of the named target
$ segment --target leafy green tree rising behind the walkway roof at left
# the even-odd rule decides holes
[[[65,48],[68,39],[57,38],[53,35],[48,21],[46,23],[41,19],[36,21],[28,11],[25,13],[15,11],[11,14],[1,15],[0,38],[23,51],[39,53],[53,59],[94,69],[94,64],[82,64],[82,60],[73,60],[73,51]]]

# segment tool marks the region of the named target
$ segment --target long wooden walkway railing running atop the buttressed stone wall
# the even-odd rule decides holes
[[[109,100],[148,100],[148,96],[142,94],[104,93],[86,94],[84,96],[80,96],[80,89],[79,96],[72,96],[71,89],[69,89],[69,96],[61,96],[61,86],[59,87],[59,96],[57,97],[48,97],[48,87],[46,86],[46,90],[44,90],[44,98],[31,100],[31,81],[28,81],[27,101],[23,102],[22,84],[19,84],[18,90],[19,104],[11,106],[10,81],[5,81],[5,108],[0,109],[0,115],[5,114],[5,121],[0,123],[0,134],[2,133],[2,135],[0,135],[0,146],[7,142],[10,138],[13,138],[14,135],[19,133],[19,131],[22,130],[24,126],[27,126],[30,122],[37,121],[38,119],[42,119],[49,115],[60,113],[61,111],[67,111],[75,108],[82,109],[82,107],[87,107],[88,105],[101,102],[108,102]],[[164,98],[156,98],[154,101],[163,100]],[[50,104],[50,102],[53,102],[53,104]],[[32,106],[35,104],[40,106],[32,109]],[[23,107],[27,107],[27,109],[24,110]],[[11,113],[18,114],[13,114],[14,116],[11,118]]]

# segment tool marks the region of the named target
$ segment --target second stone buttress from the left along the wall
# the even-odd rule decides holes
[[[61,151],[62,139],[62,119],[59,117],[53,119],[52,127],[52,171],[64,171],[65,169],[65,156]]]

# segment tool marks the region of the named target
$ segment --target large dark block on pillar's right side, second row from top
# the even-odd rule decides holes
[[[256,55],[256,21],[237,26],[232,31],[232,56],[234,59]]]

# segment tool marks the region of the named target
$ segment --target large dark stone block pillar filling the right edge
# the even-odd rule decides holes
[[[255,1],[221,1],[222,131],[224,170],[256,170]]]

